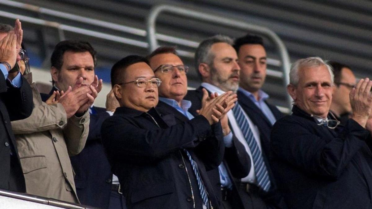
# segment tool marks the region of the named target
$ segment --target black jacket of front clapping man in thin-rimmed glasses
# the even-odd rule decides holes
[[[212,206],[219,208],[204,164],[213,168],[221,160],[209,155],[199,158],[195,149],[214,136],[207,152],[217,156],[212,152],[220,150],[222,131],[212,131],[203,116],[176,124],[174,115],[160,116],[154,108],[145,113],[119,107],[103,122],[101,133],[113,173],[124,187],[128,208],[192,208],[189,180],[196,208],[201,208],[195,175],[183,148],[197,163]]]

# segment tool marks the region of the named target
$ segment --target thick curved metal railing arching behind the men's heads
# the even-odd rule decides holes
[[[240,20],[236,20],[236,19],[230,19],[227,17],[211,15],[205,12],[198,12],[196,10],[185,9],[185,8],[177,7],[177,6],[170,6],[170,5],[154,6],[150,10],[150,13],[147,18],[147,40],[149,44],[148,49],[150,52],[155,50],[158,47],[155,24],[156,24],[156,19],[158,15],[162,12],[173,13],[175,15],[185,16],[185,17],[189,17],[192,19],[202,20],[205,22],[216,23],[218,25],[224,25],[224,26],[228,26],[231,28],[248,30],[248,31],[257,33],[259,35],[266,36],[276,45],[276,48],[278,49],[280,61],[281,61],[280,64],[281,64],[282,72],[283,72],[282,74],[283,75],[283,86],[287,86],[289,84],[289,69],[291,67],[290,66],[291,64],[289,61],[287,49],[283,41],[279,38],[279,36],[276,35],[275,32],[273,32],[272,30],[268,28],[257,26],[257,25],[252,25],[252,24],[249,24],[249,23],[246,23]],[[288,102],[288,107],[291,107],[292,98],[288,94],[287,94],[287,102]]]

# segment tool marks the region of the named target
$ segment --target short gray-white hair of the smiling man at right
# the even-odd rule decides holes
[[[299,59],[295,63],[292,64],[291,71],[289,71],[289,83],[297,86],[299,81],[298,70],[311,68],[311,67],[319,67],[321,65],[325,65],[327,67],[329,74],[331,75],[331,84],[333,84],[333,71],[331,65],[328,64],[328,61],[324,61],[320,57],[308,57],[305,59]]]

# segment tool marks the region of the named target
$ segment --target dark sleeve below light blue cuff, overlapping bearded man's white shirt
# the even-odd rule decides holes
[[[248,176],[251,158],[235,135],[232,135],[232,147],[225,148],[225,159],[233,177],[241,179]]]

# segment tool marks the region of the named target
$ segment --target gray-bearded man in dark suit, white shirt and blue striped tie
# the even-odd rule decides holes
[[[185,97],[193,103],[191,112],[199,108],[198,98],[202,88],[218,94],[237,91],[240,67],[232,44],[231,38],[222,35],[212,36],[199,44],[195,53],[195,67],[203,83],[195,91],[189,91]],[[259,130],[238,103],[227,115],[231,131],[244,146],[240,152],[249,155],[252,165],[247,176],[235,180],[242,205],[244,208],[285,208],[282,197],[276,192],[266,155],[262,152]],[[228,165],[230,170],[233,165]]]

